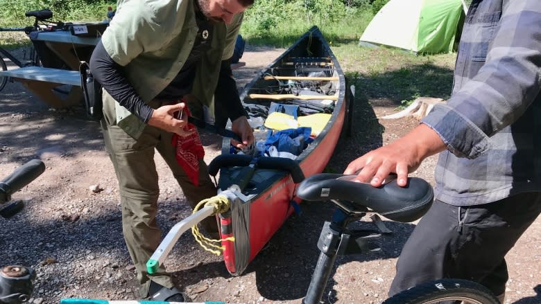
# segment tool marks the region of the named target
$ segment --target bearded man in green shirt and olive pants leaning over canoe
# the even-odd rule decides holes
[[[160,244],[156,224],[160,193],[154,163],[157,150],[189,204],[216,195],[203,159],[189,175],[171,143],[198,136],[187,125],[189,110],[203,118],[203,105],[215,102],[216,121],[232,121],[242,142],[254,141],[230,58],[243,11],[253,0],[122,0],[90,66],[103,86],[103,137],[119,181],[123,235],[141,283],[139,296],[155,301],[187,301],[162,267],[149,276],[146,261]],[[180,115],[180,116],[179,116]],[[223,127],[223,125],[218,126]],[[178,137],[180,136],[180,137]],[[180,138],[180,139],[179,139]],[[184,169],[183,169],[184,168]],[[188,170],[189,171],[189,170]],[[218,234],[216,219],[203,223]]]

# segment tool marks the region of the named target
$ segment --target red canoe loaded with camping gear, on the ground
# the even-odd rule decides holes
[[[234,242],[223,242],[225,265],[234,275],[242,274],[297,208],[297,184],[323,172],[338,138],[350,130],[353,95],[340,64],[314,26],[246,85],[241,100],[250,120],[265,121],[264,126],[256,126],[256,134],[264,134],[257,136],[257,147],[270,147],[268,130],[272,127],[277,137],[283,119],[290,116],[294,121],[286,123],[293,125],[293,130],[299,123],[311,127],[312,136],[308,139],[304,134],[291,141],[291,151],[302,151],[294,160],[283,155],[265,157],[262,148],[239,154],[231,149],[229,138],[224,138],[222,154],[209,163],[211,175],[220,172],[221,190],[237,189],[230,211],[220,215],[222,237],[234,236]],[[273,114],[271,121],[273,111],[280,114]],[[271,148],[274,153],[283,154],[288,146],[275,147]]]

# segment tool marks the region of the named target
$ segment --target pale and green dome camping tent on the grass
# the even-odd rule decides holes
[[[415,53],[454,51],[465,10],[463,0],[390,0],[370,21],[359,44]]]

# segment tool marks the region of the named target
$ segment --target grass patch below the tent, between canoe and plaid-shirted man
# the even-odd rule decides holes
[[[358,42],[331,47],[348,81],[368,100],[388,99],[401,105],[413,96],[449,98],[455,53],[415,55],[396,48],[366,48]]]

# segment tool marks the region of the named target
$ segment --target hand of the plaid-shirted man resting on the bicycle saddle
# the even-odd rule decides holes
[[[347,166],[344,174],[357,173],[353,181],[370,181],[372,186],[379,187],[390,173],[396,173],[397,184],[403,187],[407,184],[408,174],[415,171],[424,159],[445,148],[440,136],[427,125],[421,124],[393,143],[355,159]]]

